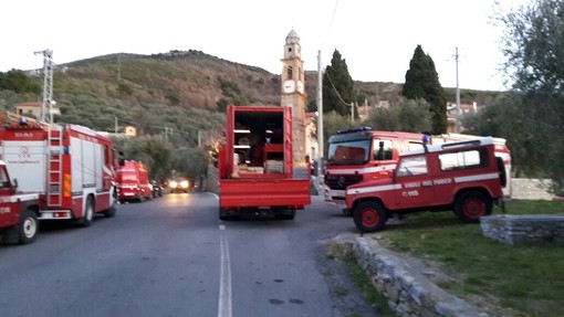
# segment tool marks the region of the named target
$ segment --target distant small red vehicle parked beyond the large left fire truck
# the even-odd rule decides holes
[[[145,163],[126,160],[119,165],[116,171],[119,200],[153,199],[153,184],[149,182],[149,173]]]

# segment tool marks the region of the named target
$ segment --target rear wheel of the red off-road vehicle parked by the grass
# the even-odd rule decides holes
[[[455,202],[455,213],[463,223],[478,223],[480,216],[490,215],[491,198],[479,191],[462,193]]]

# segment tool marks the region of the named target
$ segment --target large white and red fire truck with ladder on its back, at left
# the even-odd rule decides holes
[[[0,158],[21,192],[38,193],[41,220],[92,224],[116,212],[112,140],[79,125],[3,115]]]

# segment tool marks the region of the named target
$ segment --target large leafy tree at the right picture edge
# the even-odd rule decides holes
[[[564,180],[564,1],[534,0],[497,17],[514,99],[489,113],[530,177]],[[492,128],[493,129],[493,128]]]

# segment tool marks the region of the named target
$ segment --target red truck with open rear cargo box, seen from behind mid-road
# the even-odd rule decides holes
[[[291,107],[228,106],[219,218],[251,212],[294,219],[311,203],[310,167],[305,158],[294,161]]]

